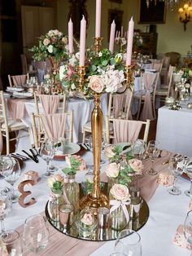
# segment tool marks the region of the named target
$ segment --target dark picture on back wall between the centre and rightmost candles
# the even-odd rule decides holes
[[[116,30],[120,31],[122,21],[123,21],[123,13],[124,13],[124,11],[120,11],[117,9],[109,9],[109,11],[108,11],[108,40],[110,37],[111,23],[113,20],[115,20],[115,22],[116,22]]]

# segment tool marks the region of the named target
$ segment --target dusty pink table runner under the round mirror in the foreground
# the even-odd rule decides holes
[[[168,165],[162,165],[163,162],[167,161],[171,156],[170,152],[162,152],[162,157],[155,159],[154,168],[158,172],[167,170]],[[144,173],[151,168],[151,160],[146,159],[144,162]],[[103,173],[102,180],[106,181],[107,177]],[[154,195],[157,183],[158,175],[150,176],[146,175],[138,181],[139,187],[141,188],[141,195],[146,200],[149,201]],[[44,214],[44,213],[43,213]],[[70,236],[65,236],[58,232],[54,227],[50,226],[50,242],[40,254],[38,255],[57,255],[57,256],[88,256],[93,253],[96,249],[101,247],[105,242],[91,242],[91,241],[81,241]],[[19,227],[18,232],[20,235],[23,233],[23,225]],[[24,256],[33,256],[24,248]]]

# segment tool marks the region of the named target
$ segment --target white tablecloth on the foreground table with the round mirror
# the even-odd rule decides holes
[[[86,152],[83,157],[85,158],[85,161],[90,164],[91,153]],[[65,166],[64,161],[55,161],[54,164],[55,166],[60,167]],[[39,174],[43,174],[46,172],[46,163],[41,159],[38,164],[33,161],[27,161],[23,172],[27,170],[36,170]],[[86,171],[80,171],[76,175],[77,182],[81,182],[85,172]],[[6,183],[0,179],[0,186],[2,187],[4,184]],[[180,177],[178,179],[178,185],[183,192],[190,187],[190,181]],[[41,179],[40,183],[37,183],[29,189],[33,192],[33,196],[37,198],[37,203],[25,209],[21,208],[18,203],[15,203],[11,213],[5,218],[6,229],[19,227],[24,223],[25,218],[45,210],[46,201],[48,201],[49,197],[49,188],[47,188],[46,179]],[[189,202],[190,198],[183,193],[181,196],[172,196],[168,194],[167,188],[161,186],[157,188],[155,195],[152,197],[151,201],[148,202],[150,217],[146,225],[139,231],[139,234],[142,237],[142,256],[190,255],[189,250],[181,249],[180,247],[177,247],[177,245],[172,244],[172,239],[178,225],[184,223]],[[89,241],[87,242],[89,243]],[[105,243],[91,255],[110,255],[113,251],[114,243],[115,241]]]

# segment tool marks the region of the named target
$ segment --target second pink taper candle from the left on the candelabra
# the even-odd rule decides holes
[[[80,30],[80,66],[85,66],[85,38],[86,38],[86,20],[83,15],[81,20],[81,30]]]

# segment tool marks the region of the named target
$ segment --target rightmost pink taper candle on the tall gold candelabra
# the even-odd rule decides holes
[[[129,30],[128,30],[128,38],[127,38],[126,65],[131,64],[132,49],[133,49],[133,32],[134,32],[134,22],[133,22],[133,17],[131,17],[131,20],[129,21]]]

